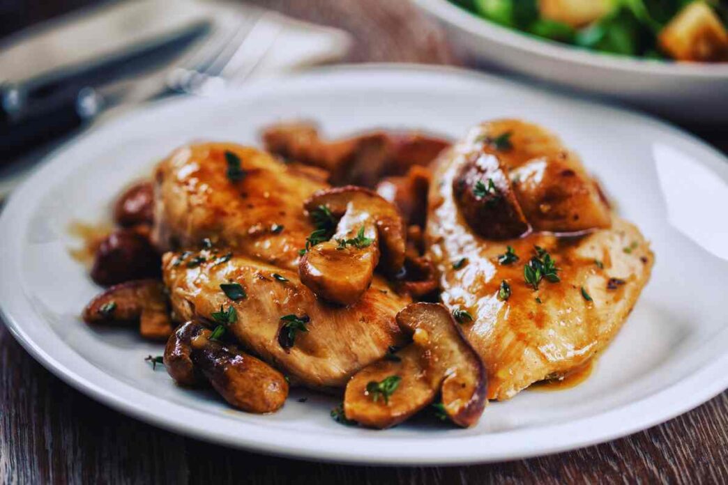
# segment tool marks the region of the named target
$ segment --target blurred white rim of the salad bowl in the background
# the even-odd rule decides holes
[[[534,52],[555,61],[654,76],[728,79],[728,63],[660,63],[637,57],[578,49],[498,25],[458,7],[448,0],[414,0],[414,2],[443,22],[462,28],[484,41],[506,44],[513,49]]]

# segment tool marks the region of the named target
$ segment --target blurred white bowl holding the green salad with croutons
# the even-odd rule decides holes
[[[447,0],[414,0],[476,63],[644,108],[675,121],[728,121],[728,63],[662,63],[538,39]]]

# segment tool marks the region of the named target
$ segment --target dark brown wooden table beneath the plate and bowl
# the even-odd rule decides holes
[[[53,3],[17,3],[24,9],[17,21],[29,23],[63,10],[49,7]],[[457,63],[442,31],[404,0],[256,3],[351,32],[356,40],[352,62]],[[703,135],[728,149],[721,132]],[[725,483],[727,448],[728,393],[723,393],[628,438],[532,460],[371,468],[266,457],[185,438],[114,412],[47,372],[0,325],[0,484]]]

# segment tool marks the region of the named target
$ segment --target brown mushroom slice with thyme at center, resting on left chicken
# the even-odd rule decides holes
[[[397,209],[373,191],[347,185],[319,191],[306,201],[309,214],[325,207],[341,217],[329,241],[309,248],[298,263],[301,282],[317,296],[342,305],[357,302],[379,264],[397,273],[405,259],[405,225]]]

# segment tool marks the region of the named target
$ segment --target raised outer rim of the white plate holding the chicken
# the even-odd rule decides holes
[[[246,94],[242,96],[250,95],[256,86],[260,86],[262,89],[272,89],[276,84],[295,81],[299,78],[306,79],[307,76],[314,78],[341,75],[366,76],[367,73],[377,71],[402,75],[421,73],[454,76],[495,84],[512,84],[511,81],[498,76],[462,68],[408,64],[338,65],[317,68],[293,76],[250,81],[245,89]],[[521,87],[522,89],[539,90],[522,84]],[[232,97],[235,96],[233,93]],[[674,137],[700,145],[705,153],[712,153],[713,156],[726,159],[722,153],[710,145],[651,116],[591,101],[578,100],[577,102],[621,113],[622,116],[639,119],[644,124],[657,125]],[[141,111],[127,113],[120,116],[119,119],[109,121],[98,130],[113,130],[115,125],[129,123],[137,116],[149,116],[145,114],[149,111],[166,113],[172,103],[194,106],[204,104],[205,100],[191,98],[161,101]],[[728,374],[725,372],[725,369],[728,368],[727,349],[711,363],[645,398],[570,422],[543,425],[535,429],[509,430],[505,433],[508,435],[506,441],[508,446],[497,450],[488,449],[486,452],[483,452],[478,446],[478,444],[482,445],[482,442],[478,442],[482,441],[482,435],[438,438],[438,444],[441,446],[438,446],[437,449],[430,446],[426,440],[423,441],[422,446],[412,446],[411,438],[387,438],[386,434],[374,438],[371,436],[364,438],[358,435],[317,436],[315,445],[312,445],[309,440],[311,436],[305,433],[280,429],[271,433],[258,433],[261,425],[257,424],[241,422],[233,433],[228,427],[229,421],[215,415],[208,415],[205,422],[200,423],[199,419],[196,419],[199,418],[197,409],[158,398],[106,374],[66,345],[50,326],[24,326],[21,323],[26,318],[37,318],[37,313],[26,300],[20,285],[11,281],[11,271],[20,271],[18,268],[20,258],[13,257],[15,254],[13,251],[20,250],[18,247],[20,238],[15,236],[16,231],[7,231],[7,229],[20,227],[23,220],[28,217],[30,210],[30,204],[24,204],[25,201],[37,196],[38,188],[42,189],[44,185],[47,185],[44,181],[52,180],[52,175],[56,175],[57,172],[63,172],[63,165],[54,164],[53,161],[62,153],[70,151],[76,143],[96,134],[97,130],[92,130],[50,153],[37,172],[12,194],[7,207],[0,214],[0,267],[4,268],[0,278],[0,302],[2,302],[0,315],[4,318],[11,334],[37,361],[72,387],[119,412],[186,436],[285,457],[367,465],[466,465],[535,457],[604,443],[670,420],[703,404],[728,388]],[[74,166],[68,167],[68,169],[72,168]],[[10,307],[12,310],[9,310]],[[39,339],[44,339],[44,342]],[[686,398],[686,396],[689,397]],[[661,412],[655,414],[654,409],[658,405]],[[244,430],[250,431],[252,436],[241,433]],[[371,433],[379,432],[371,431]],[[360,447],[362,439],[367,445],[365,449]],[[403,442],[408,442],[409,446],[402,446]]]

